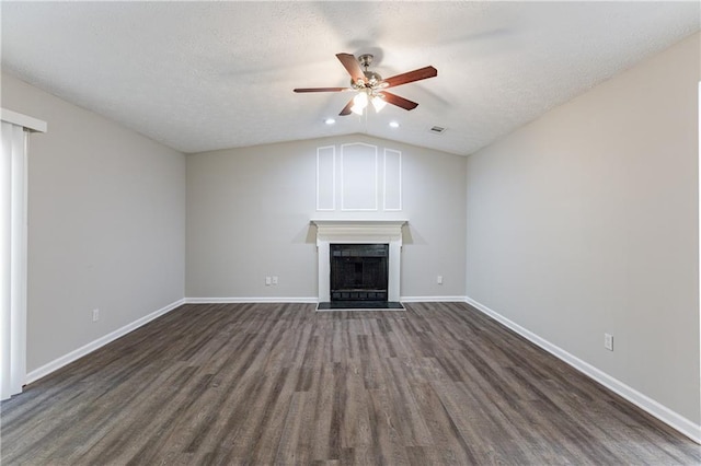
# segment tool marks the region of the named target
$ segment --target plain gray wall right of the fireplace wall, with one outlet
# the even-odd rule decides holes
[[[467,168],[468,296],[697,424],[699,42],[550,112]]]

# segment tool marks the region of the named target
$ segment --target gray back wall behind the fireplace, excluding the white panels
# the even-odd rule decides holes
[[[402,152],[401,212],[315,210],[317,148],[350,142]],[[364,135],[188,155],[187,296],[314,299],[313,218],[409,219],[402,296],[464,296],[464,167],[462,156]]]

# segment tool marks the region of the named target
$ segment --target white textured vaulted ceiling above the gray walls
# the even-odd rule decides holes
[[[470,154],[700,30],[673,2],[1,2],[2,70],[183,152],[368,133]],[[336,117],[335,58],[418,102]],[[41,117],[41,116],[37,116]],[[401,124],[389,127],[390,120]],[[446,127],[443,135],[432,126]]]

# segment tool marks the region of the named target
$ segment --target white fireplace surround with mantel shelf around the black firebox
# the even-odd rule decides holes
[[[311,220],[317,226],[319,302],[331,301],[332,244],[389,244],[388,301],[399,302],[402,226],[409,220]]]

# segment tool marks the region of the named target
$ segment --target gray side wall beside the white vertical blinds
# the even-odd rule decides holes
[[[185,156],[7,74],[2,106],[48,124],[28,151],[31,372],[184,298]]]

